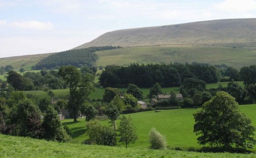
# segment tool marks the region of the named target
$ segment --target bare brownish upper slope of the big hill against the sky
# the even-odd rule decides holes
[[[92,46],[218,46],[256,48],[256,18],[221,19],[117,30],[74,49]]]

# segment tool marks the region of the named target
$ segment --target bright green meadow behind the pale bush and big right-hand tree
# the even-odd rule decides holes
[[[254,112],[256,110],[256,104],[241,105],[240,109],[247,117],[252,119],[252,124],[256,126],[256,116]],[[129,147],[147,148],[149,146],[148,133],[151,128],[155,127],[166,137],[170,148],[199,149],[202,146],[197,143],[197,136],[193,132],[195,123],[193,114],[198,110],[199,109],[175,109],[130,114],[137,128],[139,140],[135,144],[129,145]],[[73,123],[72,119],[62,121],[62,123],[67,125],[73,132],[72,143],[81,143],[88,138],[85,119],[78,119],[78,121],[77,123]],[[119,121],[120,120],[117,120],[117,125],[119,125]],[[109,120],[100,122],[105,125],[110,125]],[[256,146],[252,150],[256,151]]]

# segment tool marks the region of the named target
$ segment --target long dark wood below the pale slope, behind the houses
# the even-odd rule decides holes
[[[151,87],[156,82],[164,87],[180,86],[186,78],[197,78],[207,83],[219,81],[214,66],[205,64],[131,64],[127,67],[108,65],[100,76],[103,87],[125,87],[129,83]]]

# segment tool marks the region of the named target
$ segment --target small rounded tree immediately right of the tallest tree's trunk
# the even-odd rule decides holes
[[[86,116],[87,122],[95,119],[98,115],[98,110],[96,110],[89,102],[83,103],[80,111],[82,115]]]

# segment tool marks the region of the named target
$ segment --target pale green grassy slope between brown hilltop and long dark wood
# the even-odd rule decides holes
[[[97,65],[130,63],[209,63],[226,64],[239,69],[255,64],[256,51],[217,47],[130,47],[96,52]]]

